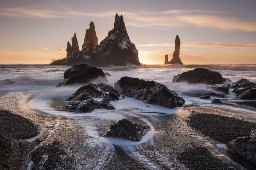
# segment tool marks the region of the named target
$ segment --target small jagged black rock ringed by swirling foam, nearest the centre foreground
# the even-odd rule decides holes
[[[117,137],[132,141],[140,141],[141,137],[149,131],[145,126],[132,123],[127,119],[119,120],[111,125],[110,131],[104,137]]]

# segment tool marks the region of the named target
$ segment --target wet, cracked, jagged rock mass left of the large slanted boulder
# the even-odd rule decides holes
[[[120,94],[113,89],[110,85],[99,83],[99,84],[87,84],[73,93],[72,96],[68,97],[68,106],[66,107],[69,111],[76,112],[91,112],[95,109],[115,109],[109,101],[119,100]],[[102,101],[96,101],[92,98],[102,98]]]

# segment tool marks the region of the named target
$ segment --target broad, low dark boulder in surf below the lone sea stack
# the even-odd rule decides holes
[[[185,81],[191,83],[203,83],[203,84],[222,84],[227,79],[224,79],[222,75],[217,71],[212,71],[203,68],[197,68],[182,74],[178,74],[173,77],[173,82]]]

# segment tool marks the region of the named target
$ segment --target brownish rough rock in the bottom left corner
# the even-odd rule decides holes
[[[0,169],[21,169],[21,160],[37,144],[0,136]]]

